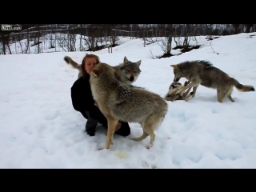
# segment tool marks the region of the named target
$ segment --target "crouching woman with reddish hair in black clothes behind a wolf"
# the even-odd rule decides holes
[[[107,129],[107,119],[99,110],[90,90],[90,73],[94,66],[100,62],[95,54],[86,54],[82,59],[82,77],[78,78],[71,87],[71,100],[74,110],[82,114],[86,121],[86,134],[94,136],[98,123]],[[128,122],[118,122],[115,134],[128,136],[130,126]]]

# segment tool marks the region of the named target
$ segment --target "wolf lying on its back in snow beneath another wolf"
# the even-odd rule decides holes
[[[190,97],[194,94],[193,91],[190,92],[191,87],[186,90],[185,94],[177,94],[178,90],[181,90],[184,86],[187,86],[190,82],[185,82],[184,85],[182,86],[182,83],[180,82],[172,82],[169,87],[169,91],[165,96],[166,101],[171,101],[174,102],[176,100],[184,100],[188,101]]]

